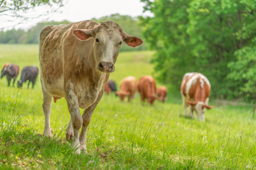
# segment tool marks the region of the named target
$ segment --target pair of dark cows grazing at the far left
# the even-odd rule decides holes
[[[10,82],[13,79],[13,87],[14,87],[14,82],[19,74],[19,71],[20,70],[18,65],[7,62],[5,63],[1,71],[1,78],[3,78],[6,75],[8,80],[8,86],[10,86]],[[22,87],[22,83],[28,80],[28,87],[29,87],[29,83],[32,82],[32,88],[33,88],[37,75],[38,75],[38,67],[36,66],[24,67],[21,71],[20,80],[17,83],[18,87]]]

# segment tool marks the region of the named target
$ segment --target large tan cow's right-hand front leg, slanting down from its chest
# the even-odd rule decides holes
[[[87,127],[90,123],[91,117],[92,117],[92,113],[95,109],[95,107],[97,106],[98,102],[100,101],[102,95],[103,95],[104,89],[102,89],[97,97],[97,100],[87,109],[84,110],[84,113],[82,115],[83,118],[83,125],[82,125],[82,130],[81,130],[81,134],[79,137],[79,141],[81,144],[81,150],[85,150],[85,152],[87,153],[87,148],[86,148],[86,132],[87,132]]]

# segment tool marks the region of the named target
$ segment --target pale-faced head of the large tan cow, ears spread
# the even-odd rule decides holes
[[[135,36],[127,35],[122,28],[113,21],[101,23],[96,28],[73,30],[79,40],[94,38],[94,57],[97,70],[101,72],[115,71],[115,61],[123,42],[131,47],[137,47],[143,41]]]

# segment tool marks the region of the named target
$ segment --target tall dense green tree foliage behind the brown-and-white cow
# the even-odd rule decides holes
[[[247,96],[241,92],[242,81],[232,75],[238,56],[255,44],[254,0],[141,1],[145,11],[154,13],[141,20],[143,35],[157,50],[153,62],[160,80],[179,87],[184,73],[201,72],[211,82],[212,96]]]

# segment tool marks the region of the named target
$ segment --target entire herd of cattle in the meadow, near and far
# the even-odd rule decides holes
[[[45,116],[44,136],[52,136],[50,128],[52,99],[56,102],[57,99],[65,97],[70,112],[66,139],[73,140],[72,148],[75,149],[75,153],[79,154],[81,150],[87,150],[87,127],[103,95],[110,72],[115,70],[115,62],[123,42],[130,47],[137,47],[143,43],[139,37],[126,34],[120,25],[113,21],[98,24],[92,20],[85,20],[68,25],[49,25],[41,31],[39,64]],[[10,79],[13,78],[15,81],[18,75],[18,66],[6,64],[1,77],[4,75],[7,76],[10,85]],[[31,79],[30,75],[33,75]],[[21,73],[19,86],[26,80],[34,84],[37,75],[36,67],[26,68],[24,73],[23,71]],[[109,81],[105,91],[108,93],[112,89],[116,90]],[[166,99],[166,88],[159,87],[156,90],[156,82],[151,76],[141,77],[138,84],[134,77],[126,77],[121,82],[120,90],[115,91],[115,94],[121,100],[128,97],[130,101],[136,89],[141,95],[141,100],[147,98],[151,105],[156,99],[163,102]],[[189,106],[191,116],[195,110],[197,116],[204,120],[206,108],[212,108],[208,105],[209,80],[200,73],[187,73],[182,80],[181,94],[184,115],[187,115],[186,109]],[[79,108],[84,109],[82,115]]]

